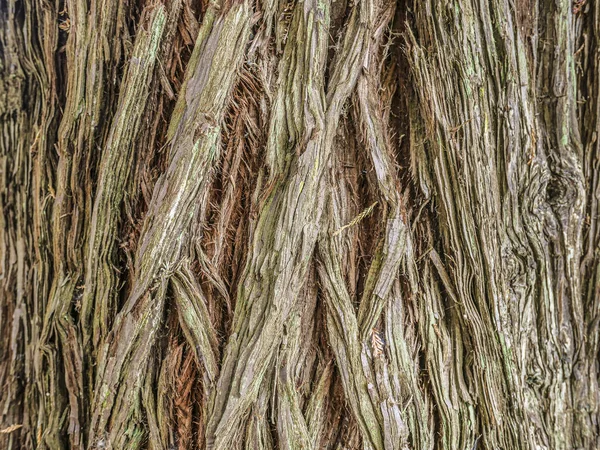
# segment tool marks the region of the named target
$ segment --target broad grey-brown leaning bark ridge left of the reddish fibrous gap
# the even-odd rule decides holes
[[[137,447],[142,437],[141,418],[136,417],[140,393],[139,378],[146,367],[157,325],[163,316],[169,278],[181,263],[182,250],[189,240],[194,200],[207,188],[218,157],[219,122],[225,99],[234,82],[247,40],[250,10],[247,3],[234,5],[224,15],[214,15],[203,24],[196,48],[196,67],[190,70],[184,108],[170,143],[167,171],[154,188],[144,220],[136,255],[136,280],[123,310],[115,320],[99,358],[90,442],[108,448]],[[236,43],[235,52],[225,52]],[[230,59],[217,58],[229,54]],[[200,64],[206,58],[212,64]],[[176,236],[172,245],[167,236]],[[112,338],[112,339],[111,339]],[[115,389],[116,386],[116,389]],[[132,423],[133,422],[133,423]]]

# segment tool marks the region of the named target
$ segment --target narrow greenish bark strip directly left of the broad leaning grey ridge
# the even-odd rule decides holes
[[[117,111],[100,159],[92,209],[81,315],[86,322],[84,330],[92,330],[93,348],[98,347],[100,340],[106,336],[111,325],[111,313],[115,309],[117,276],[113,269],[113,255],[119,210],[128,169],[133,162],[133,143],[148,99],[149,80],[167,19],[162,5],[144,10],[144,14],[148,15],[143,19],[147,20],[147,24],[142,22],[140,26],[147,29],[138,31],[123,79]],[[84,335],[84,343],[89,339]]]

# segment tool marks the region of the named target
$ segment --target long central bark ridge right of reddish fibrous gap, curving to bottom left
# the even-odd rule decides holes
[[[291,167],[286,168],[289,175],[272,167],[276,176],[287,175],[287,179],[271,181],[273,190],[265,199],[254,232],[209,415],[208,448],[224,449],[241,441],[244,418],[272,364],[316,242],[323,211],[322,197],[317,194],[324,187],[322,174],[329,157],[326,136],[333,131],[324,123],[328,23],[328,3],[311,1],[296,6],[279,70],[282,78],[293,74],[298,79],[288,84],[283,78],[278,89],[301,100],[289,110],[276,110],[272,118],[286,121],[291,132],[283,143],[292,146],[280,147],[282,141],[278,140],[269,142],[267,148],[268,155],[291,159]],[[310,45],[303,48],[299,42]],[[284,132],[275,131],[276,126],[272,125],[272,132]],[[294,129],[301,134],[294,134]],[[300,156],[294,158],[296,153]]]

